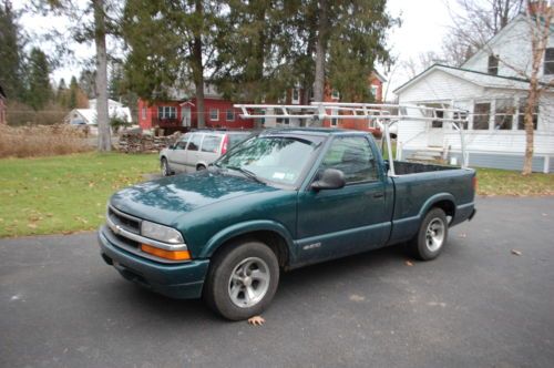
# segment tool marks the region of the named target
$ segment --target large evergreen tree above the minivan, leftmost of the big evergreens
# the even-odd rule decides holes
[[[124,67],[129,88],[155,100],[174,88],[194,85],[203,127],[204,74],[216,54],[220,14],[222,4],[215,1],[127,0],[122,33],[130,48]]]

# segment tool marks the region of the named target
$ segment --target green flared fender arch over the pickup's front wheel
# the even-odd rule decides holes
[[[234,237],[260,231],[274,232],[280,235],[287,243],[289,255],[291,257],[296,255],[295,249],[293,247],[294,244],[293,237],[290,236],[290,233],[285,226],[274,221],[256,219],[256,221],[248,221],[234,224],[233,226],[226,227],[223,231],[216,233],[206,243],[206,246],[199,254],[199,258],[211,257],[215,253],[215,251],[219,248],[219,246],[222,246],[223,244],[225,244],[225,242]]]

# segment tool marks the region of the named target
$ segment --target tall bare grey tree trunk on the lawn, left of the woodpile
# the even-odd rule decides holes
[[[107,58],[105,44],[104,0],[92,0],[94,8],[94,43],[96,45],[96,123],[100,152],[112,151],[107,115]]]

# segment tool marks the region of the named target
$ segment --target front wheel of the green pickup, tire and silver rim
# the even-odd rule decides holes
[[[259,242],[229,246],[214,258],[204,289],[207,304],[230,320],[259,315],[279,284],[275,253]]]

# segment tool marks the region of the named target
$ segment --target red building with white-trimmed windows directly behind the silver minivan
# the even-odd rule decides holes
[[[198,111],[196,98],[150,102],[138,100],[138,125],[142,129],[161,127],[166,133],[187,131],[198,126],[198,116],[204,114],[206,127],[253,129],[250,119],[242,119],[233,102],[224,100],[212,86],[205,88],[204,111]]]

